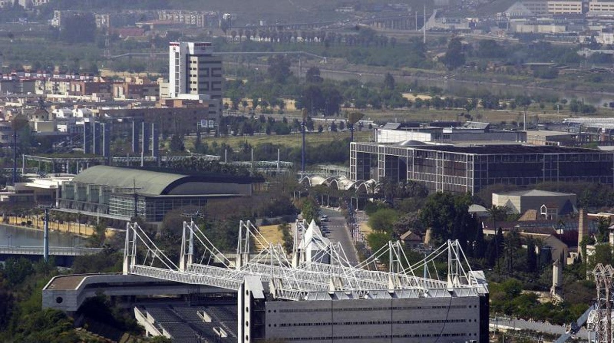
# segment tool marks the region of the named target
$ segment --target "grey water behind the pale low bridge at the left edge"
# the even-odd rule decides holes
[[[0,245],[42,247],[43,231],[0,225]],[[83,246],[85,238],[74,234],[49,231],[50,247]]]

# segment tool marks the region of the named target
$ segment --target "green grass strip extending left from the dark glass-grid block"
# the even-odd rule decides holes
[[[372,133],[370,130],[365,129],[365,131],[354,132],[354,141],[369,141]],[[309,133],[305,136],[306,144],[327,144],[335,141],[341,141],[342,139],[349,137],[349,132],[327,132],[327,133]],[[211,145],[212,142],[217,142],[217,144],[228,144],[233,148],[239,147],[239,145],[243,144],[243,142],[248,142],[252,146],[263,144],[263,143],[271,143],[283,145],[284,147],[300,147],[301,146],[301,135],[298,133],[288,134],[286,136],[277,136],[271,135],[268,136],[266,134],[256,135],[256,136],[228,136],[228,137],[204,137],[203,142]],[[194,139],[190,139],[188,147],[193,147]]]

